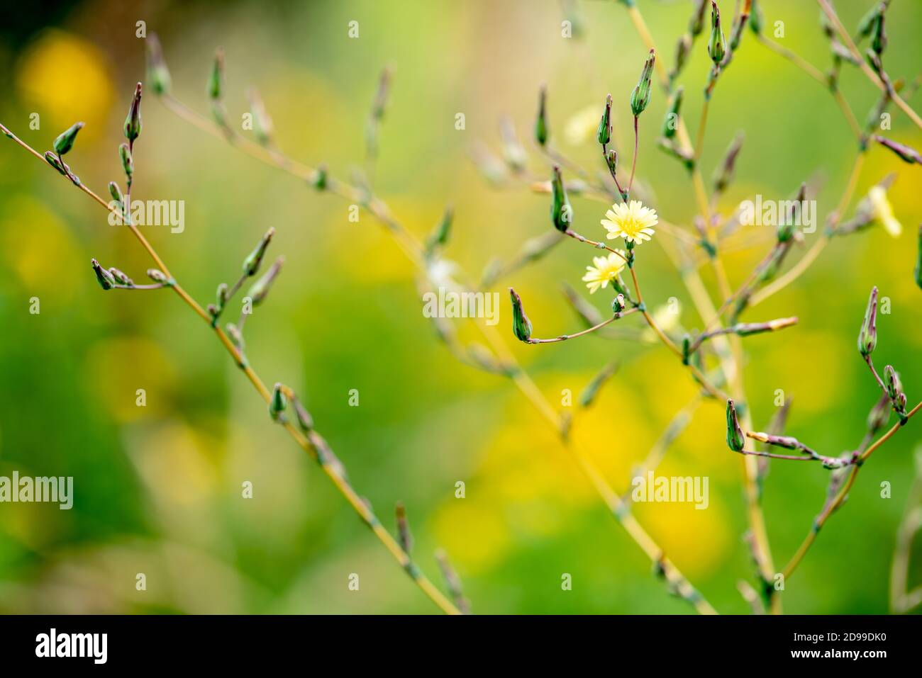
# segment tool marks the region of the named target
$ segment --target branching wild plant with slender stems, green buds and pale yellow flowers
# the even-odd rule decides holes
[[[552,227],[548,228],[546,233],[527,241],[521,251],[515,253],[510,261],[491,262],[477,283],[472,282],[471,278],[465,275],[456,264],[444,258],[444,250],[453,230],[452,210],[446,209],[443,219],[433,228],[428,239],[419,240],[403,226],[389,206],[373,190],[378,134],[380,134],[384,119],[392,78],[390,69],[385,69],[380,78],[366,125],[365,169],[354,172],[350,181],[338,180],[324,166],[314,168],[283,153],[275,140],[271,119],[255,90],[251,90],[249,97],[253,136],[238,132],[229,123],[230,117],[222,99],[224,61],[223,53],[220,51],[216,55],[208,87],[210,115],[196,112],[173,96],[169,71],[156,36],[148,39],[148,88],[159,96],[167,108],[203,132],[230,143],[231,146],[253,158],[282,169],[313,186],[317,191],[333,193],[350,204],[359,205],[362,210],[381,223],[385,232],[396,241],[399,249],[419,269],[420,291],[442,284],[446,271],[451,272],[453,284],[461,289],[470,292],[489,289],[503,278],[514,275],[526,265],[538,263],[564,241],[580,242],[597,250],[599,256],[594,257],[592,263],[586,266],[583,281],[590,296],[600,291],[610,290],[611,312],[600,313],[594,305],[567,286],[564,288],[564,296],[582,322],[582,328],[572,333],[536,336],[535,327],[526,314],[526,304],[514,288],[510,287],[514,337],[530,346],[558,344],[592,333],[611,335],[617,332],[618,326],[632,322],[632,318],[643,321],[652,332],[655,341],[664,345],[675,356],[677,367],[680,370],[686,370],[691,380],[700,386],[700,392],[695,395],[691,403],[673,417],[666,431],[656,442],[654,449],[650,450],[645,457],[642,464],[644,470],[655,469],[662,461],[669,445],[688,425],[699,403],[711,400],[720,403],[722,408],[726,408],[727,446],[730,450],[738,452],[743,461],[742,480],[749,521],[747,541],[751,547],[755,567],[754,582],[740,581],[739,591],[751,603],[753,612],[778,614],[782,611],[779,591],[783,590],[784,581],[790,578],[802,562],[826,520],[843,505],[862,464],[909,422],[922,403],[909,408],[907,396],[896,369],[888,365],[881,373],[873,364],[871,354],[877,343],[878,312],[875,288],[871,292],[868,310],[859,332],[858,349],[859,355],[867,363],[871,377],[878,384],[881,393],[869,414],[867,433],[857,448],[839,455],[822,454],[797,438],[784,435],[786,419],[789,415],[789,401],[772,417],[772,421],[764,431],[757,430],[752,424],[753,416],[748,406],[743,381],[742,366],[745,363],[746,354],[743,352],[742,338],[756,333],[786,330],[796,325],[798,319],[793,317],[761,318],[754,321],[741,319],[766,298],[774,296],[798,279],[810,267],[810,264],[817,260],[824,247],[833,238],[845,237],[874,227],[884,228],[892,233],[902,228],[893,215],[892,207],[887,199],[887,189],[892,184],[892,177],[884,177],[872,186],[869,193],[857,201],[850,216],[847,210],[855,199],[864,159],[872,149],[881,147],[895,153],[907,163],[922,163],[922,156],[915,149],[877,134],[881,114],[892,105],[903,111],[913,123],[922,128],[922,120],[902,97],[902,93],[908,93],[916,85],[907,86],[903,80],[893,79],[883,66],[883,53],[887,46],[885,18],[888,2],[877,3],[871,7],[857,29],[857,37],[853,39],[837,17],[831,3],[828,0],[818,0],[818,5],[822,10],[822,27],[829,41],[832,56],[832,67],[825,74],[797,53],[788,50],[768,36],[761,3],[757,0],[742,0],[737,3],[737,11],[728,31],[725,31],[724,19],[721,17],[720,7],[716,2],[695,0],[689,28],[678,41],[673,66],[669,70],[663,64],[663,60],[657,56],[656,44],[634,0],[619,0],[619,4],[644,41],[647,52],[637,86],[633,88],[630,97],[612,97],[611,95],[604,99],[599,97],[603,99],[599,105],[600,120],[596,133],[601,156],[599,169],[586,169],[580,166],[567,158],[554,145],[554,134],[548,114],[550,97],[547,88],[541,88],[538,94],[538,114],[533,133],[535,150],[542,164],[547,167],[547,173],[536,174],[528,169],[531,158],[519,142],[514,125],[508,120],[503,120],[501,125],[502,159],[491,155],[483,146],[475,149],[474,159],[492,184],[502,188],[525,186],[533,193],[550,196]],[[708,18],[710,18],[709,22]],[[705,24],[708,24],[709,28]],[[706,74],[689,74],[690,77],[697,76],[704,92],[703,108],[699,111],[698,128],[692,142],[686,124],[688,107],[683,107],[684,90],[678,83],[685,73],[691,50],[695,48],[696,43],[703,42],[705,29],[708,30],[707,42],[706,46],[702,45],[701,49],[706,49],[712,65]],[[825,228],[822,228],[822,232],[814,237],[810,248],[798,261],[782,273],[789,255],[795,251],[794,246],[806,243],[807,236],[810,235],[798,225],[799,211],[803,209],[802,205],[810,193],[810,187],[806,182],[796,188],[793,199],[785,201],[786,206],[775,215],[774,240],[762,261],[755,266],[750,275],[734,287],[730,284],[724,263],[725,257],[730,253],[727,240],[729,235],[739,230],[744,215],[742,210],[723,214],[717,209],[717,205],[718,198],[733,180],[735,164],[741,152],[743,140],[741,135],[737,135],[731,141],[726,156],[717,164],[715,179],[711,182],[710,191],[703,176],[701,150],[707,129],[708,110],[718,91],[720,77],[731,64],[745,56],[739,50],[740,45],[745,44],[744,40],[747,36],[751,36],[748,42],[758,42],[774,53],[778,53],[790,63],[797,65],[831,93],[854,134],[857,154],[838,205],[827,216]],[[869,49],[866,53],[861,53],[857,44],[865,40],[869,41]],[[839,88],[840,71],[847,67],[859,68],[881,91],[879,101],[869,112],[868,122],[864,124],[858,123],[857,117]],[[669,223],[655,207],[649,205],[652,194],[644,191],[644,184],[635,181],[638,170],[640,134],[642,132],[651,134],[646,131],[650,129],[650,124],[647,123],[649,113],[644,116],[644,111],[647,111],[655,90],[661,91],[668,101],[666,120],[662,125],[654,125],[658,133],[657,143],[669,157],[676,158],[687,170],[698,212],[690,225],[691,228]],[[631,111],[633,153],[630,169],[625,169],[622,154],[615,144],[618,135],[615,134],[612,110],[613,107],[621,105],[618,102],[622,99],[627,99]],[[6,128],[4,132],[12,137],[12,134],[6,132]],[[76,135],[76,132],[74,134]],[[25,146],[22,142],[18,143]],[[129,139],[127,148],[129,160],[132,158],[130,144]],[[28,148],[28,146],[25,147]],[[32,152],[41,158],[39,154]],[[48,158],[48,161],[82,190],[95,197],[95,194],[82,187],[79,181],[71,175],[70,169],[65,166],[61,158],[63,155],[64,153],[52,154],[52,158]],[[642,166],[640,169],[643,171]],[[126,176],[131,173],[128,166],[125,167],[125,173]],[[565,173],[573,176],[565,179]],[[116,195],[117,193],[112,194],[113,199]],[[597,215],[602,227],[598,231],[598,240],[587,237],[583,232],[575,229],[576,215],[570,202],[570,196],[573,195],[580,195],[585,199],[610,205],[605,212],[600,210]],[[100,198],[96,199],[100,204],[106,205]],[[121,198],[116,199],[116,205],[119,200]],[[339,482],[345,473],[337,470],[341,469],[337,462],[331,462],[336,458],[325,445],[323,438],[320,438],[313,430],[313,425],[301,425],[298,413],[302,410],[302,405],[296,401],[294,393],[280,384],[273,392],[269,392],[255,377],[252,370],[249,370],[243,357],[242,341],[235,336],[235,330],[239,330],[238,325],[242,323],[228,325],[227,332],[220,329],[218,319],[228,298],[249,276],[246,274],[246,267],[244,267],[244,276],[238,283],[231,288],[219,287],[217,303],[207,310],[202,310],[185,295],[181,287],[176,285],[169,271],[162,265],[156,253],[150,249],[146,240],[136,232],[136,228],[132,227],[130,221],[126,223],[135,232],[142,245],[148,249],[155,263],[158,263],[158,270],[163,277],[158,279],[156,275],[154,276],[155,286],[170,286],[196,310],[203,320],[211,324],[222,344],[231,353],[231,357],[247,373],[257,391],[270,404],[270,414],[290,430],[292,437],[299,442],[301,447],[318,458],[325,472],[347,497],[349,503],[363,520],[372,526],[372,530],[395,555],[398,562],[408,569],[411,577],[420,584],[420,588],[430,594],[433,600],[439,602],[446,611],[466,610],[467,602],[463,600],[456,576],[450,568],[445,569],[445,577],[455,599],[454,605],[444,601],[438,591],[432,592],[428,580],[422,578],[419,570],[412,566],[408,556],[408,530],[402,509],[398,509],[401,536],[397,543],[388,532],[381,528],[380,523],[373,517],[371,509],[361,502],[351,487]],[[581,230],[586,232],[582,227]],[[605,236],[604,239],[602,235]],[[254,251],[256,258],[261,260],[271,237],[271,232],[267,233],[257,246]],[[615,242],[609,245],[607,240]],[[653,245],[648,243],[653,242],[663,248],[670,262],[675,265],[678,280],[685,287],[702,323],[699,329],[683,332],[662,327],[662,322],[657,319],[655,306],[651,306],[649,299],[644,298],[641,286],[642,275],[639,269],[643,268],[642,254],[645,250],[641,246],[646,245],[650,248]],[[262,253],[257,254],[259,251]],[[920,229],[919,252],[915,279],[916,284],[922,287],[922,229]],[[251,261],[252,259],[251,257]],[[703,266],[713,270],[716,290],[709,289],[704,284],[700,271]],[[97,268],[100,284],[103,283],[103,279],[106,279],[106,284],[112,287],[131,288],[133,286],[132,283],[126,283],[115,272],[110,271],[113,283],[104,273],[106,269],[95,265],[94,268]],[[258,263],[256,263],[256,268],[258,268]],[[100,274],[100,271],[103,273]],[[629,282],[626,282],[626,279]],[[460,339],[452,323],[443,318],[433,318],[433,322],[439,339],[459,361],[513,381],[515,387],[538,409],[538,412],[556,432],[561,449],[573,459],[606,504],[611,515],[649,557],[656,575],[667,583],[668,589],[689,602],[697,612],[714,614],[715,608],[704,599],[699,590],[691,585],[691,582],[633,516],[630,496],[622,495],[609,484],[609,480],[590,460],[581,444],[573,438],[573,427],[578,424],[574,421],[576,417],[559,411],[551,404],[545,393],[515,360],[502,336],[490,325],[475,323],[479,331],[483,333],[489,348],[479,344],[466,344]],[[607,364],[586,385],[580,398],[581,407],[587,408],[592,405],[597,393],[616,369],[617,363]],[[287,418],[289,410],[286,408],[289,403],[295,412],[295,424]],[[896,422],[888,428],[890,418],[894,414]],[[770,451],[775,449],[786,451]],[[762,487],[766,481],[770,460],[773,459],[779,462],[820,462],[830,472],[827,497],[820,513],[810,527],[803,544],[791,556],[786,567],[780,570],[774,566],[762,510]],[[915,525],[916,522],[907,519],[906,524]],[[907,527],[904,532],[909,534],[910,529]],[[911,541],[911,535],[908,539]],[[904,537],[900,544],[904,544],[905,540]],[[908,547],[904,546],[904,551],[907,549]],[[894,558],[894,572],[899,568],[904,569],[902,565],[898,567],[897,562],[905,563],[907,558],[908,555]],[[442,562],[444,561],[440,558],[440,563]],[[894,581],[896,581],[895,576]],[[905,594],[904,578],[901,581],[902,588],[893,595],[893,607],[903,611],[908,609],[909,603],[918,598],[918,595],[916,591]]]

